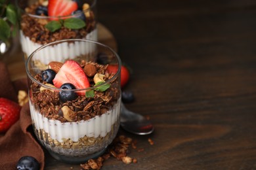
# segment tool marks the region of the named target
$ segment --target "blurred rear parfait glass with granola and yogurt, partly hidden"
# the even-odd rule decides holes
[[[16,0],[20,16],[20,44],[25,61],[35,49],[49,42],[62,39],[98,41],[96,0],[80,0],[77,10],[68,16],[49,16],[48,5],[48,0]],[[79,28],[74,28],[77,21],[70,21],[70,18],[81,19],[84,26],[81,27],[82,24]]]

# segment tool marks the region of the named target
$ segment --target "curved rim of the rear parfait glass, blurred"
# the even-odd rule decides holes
[[[77,12],[77,13],[75,13],[75,14],[70,14],[70,15],[67,15],[67,16],[40,16],[40,15],[36,15],[36,14],[30,14],[30,13],[26,12],[26,10],[20,8],[20,3],[18,3],[18,1],[19,1],[19,0],[16,0],[16,6],[18,7],[18,9],[22,10],[22,12],[23,12],[24,14],[27,14],[28,16],[31,16],[31,17],[33,17],[33,18],[38,18],[38,19],[47,19],[47,20],[49,20],[49,19],[51,19],[51,20],[56,20],[56,19],[58,19],[58,20],[64,20],[64,19],[66,19],[66,18],[70,18],[70,17],[77,16],[77,15],[81,14],[82,12],[83,12],[83,13],[89,12],[90,10],[92,10],[92,9],[96,6],[96,1],[97,1],[97,0],[92,0],[93,3],[90,4],[90,6],[89,6],[88,9],[86,9],[86,10],[81,10],[81,12]]]

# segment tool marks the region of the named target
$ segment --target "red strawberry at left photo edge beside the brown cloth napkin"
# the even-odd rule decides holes
[[[0,97],[0,133],[7,131],[20,118],[20,105]]]

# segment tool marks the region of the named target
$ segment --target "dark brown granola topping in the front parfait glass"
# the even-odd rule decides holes
[[[108,65],[100,65],[98,63],[93,62],[85,62],[81,61],[81,67],[85,67],[85,65],[95,65],[97,73],[105,75],[105,80],[111,79],[114,75],[108,74],[106,72],[106,67]],[[43,82],[41,73],[38,73],[35,76],[35,79],[41,83]],[[92,77],[88,77],[91,86],[94,86],[95,83]],[[66,101],[62,103],[59,99],[59,94],[57,91],[43,89],[41,86],[35,82],[32,82],[31,85],[31,100],[32,103],[37,106],[39,112],[46,118],[51,120],[59,120],[60,122],[70,122],[66,118],[64,118],[62,114],[62,107],[68,107],[68,109],[75,112],[72,117],[72,122],[77,122],[80,120],[89,120],[95,116],[100,116],[111,110],[114,104],[120,97],[120,90],[117,83],[117,80],[114,79],[110,82],[110,88],[104,92],[95,91],[94,97],[85,97],[84,95],[78,96],[73,101]]]

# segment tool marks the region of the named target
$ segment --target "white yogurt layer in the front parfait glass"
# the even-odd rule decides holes
[[[43,117],[39,110],[30,101],[30,114],[32,122],[37,130],[43,129],[52,139],[62,142],[63,139],[71,139],[77,142],[81,137],[105,137],[112,131],[112,126],[119,120],[121,99],[117,100],[112,110],[95,116],[90,120],[79,122],[60,122],[59,120],[49,120]]]

